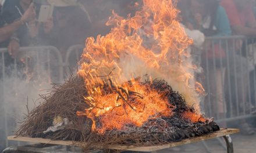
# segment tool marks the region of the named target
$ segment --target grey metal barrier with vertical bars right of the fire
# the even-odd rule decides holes
[[[256,38],[206,38],[201,65],[206,115],[219,122],[255,116]]]

